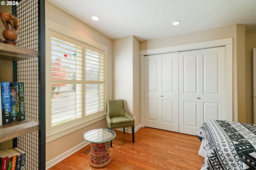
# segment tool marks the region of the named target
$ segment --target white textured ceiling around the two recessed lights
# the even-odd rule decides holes
[[[256,32],[256,0],[47,1],[111,39],[134,35],[144,41],[235,23]],[[172,25],[177,20],[180,25]]]

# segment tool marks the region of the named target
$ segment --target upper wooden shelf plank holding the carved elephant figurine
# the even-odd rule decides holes
[[[38,51],[0,43],[0,60],[22,61],[38,57]]]

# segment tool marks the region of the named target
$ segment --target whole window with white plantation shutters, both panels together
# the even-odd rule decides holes
[[[50,31],[51,125],[57,131],[105,114],[105,51]]]

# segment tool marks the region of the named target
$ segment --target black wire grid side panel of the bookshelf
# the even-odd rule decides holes
[[[16,6],[20,21],[19,47],[38,50],[38,0],[21,0]],[[38,120],[38,58],[17,62],[17,81],[24,82],[26,119]],[[39,132],[18,137],[17,146],[26,150],[27,170],[38,170]]]

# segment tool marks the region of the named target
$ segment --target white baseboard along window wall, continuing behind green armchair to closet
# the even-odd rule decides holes
[[[134,133],[140,129],[141,125],[139,124],[137,127],[134,127]],[[118,131],[123,131],[123,128],[116,129]],[[125,128],[125,131],[128,133],[132,133],[132,129]],[[58,164],[60,161],[64,160],[68,156],[72,155],[73,153],[77,152],[78,150],[82,149],[86,145],[89,145],[90,143],[88,141],[84,141],[80,143],[79,145],[76,145],[75,147],[71,148],[70,150],[67,150],[66,152],[60,154],[59,156],[53,158],[52,160],[49,160],[46,162],[46,170],[51,168],[52,166]]]

